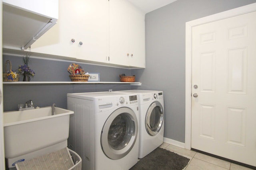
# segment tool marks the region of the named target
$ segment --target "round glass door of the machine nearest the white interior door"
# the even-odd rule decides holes
[[[164,123],[164,109],[160,102],[153,102],[147,110],[145,117],[145,126],[149,135],[158,134]]]

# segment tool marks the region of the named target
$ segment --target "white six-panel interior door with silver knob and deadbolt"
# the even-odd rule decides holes
[[[191,147],[256,166],[256,12],[192,28]]]

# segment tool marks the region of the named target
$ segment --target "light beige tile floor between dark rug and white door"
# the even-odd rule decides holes
[[[212,156],[201,154],[193,150],[187,150],[168,143],[163,143],[160,148],[175,152],[181,156],[189,158],[188,165],[183,170],[251,170],[244,166],[227,162]]]

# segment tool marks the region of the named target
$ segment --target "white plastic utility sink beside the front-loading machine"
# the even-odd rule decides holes
[[[8,111],[4,117],[4,151],[8,167],[15,163],[67,147],[70,114],[52,106]]]

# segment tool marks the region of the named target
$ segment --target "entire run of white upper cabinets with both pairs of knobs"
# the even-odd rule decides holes
[[[58,23],[30,50],[86,63],[145,68],[144,16],[126,0],[60,0]]]

